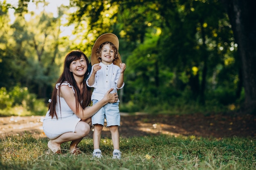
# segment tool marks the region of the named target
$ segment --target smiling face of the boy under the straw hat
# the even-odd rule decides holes
[[[110,48],[110,44],[103,45],[101,49],[101,62],[105,65],[112,64],[115,58],[114,49]]]

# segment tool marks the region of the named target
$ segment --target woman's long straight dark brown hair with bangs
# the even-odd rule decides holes
[[[68,82],[70,83],[71,86],[74,87],[75,91],[75,97],[76,97],[76,110],[78,110],[79,105],[82,106],[84,109],[87,106],[90,106],[91,104],[91,96],[92,96],[92,91],[91,88],[86,86],[85,81],[83,82],[83,92],[80,93],[80,90],[78,86],[76,85],[76,81],[74,79],[73,73],[70,72],[70,64],[74,60],[79,60],[81,58],[81,55],[85,57],[86,63],[87,63],[87,71],[85,73],[85,77],[88,75],[88,66],[89,66],[89,60],[86,57],[86,55],[79,50],[76,51],[71,51],[68,53],[65,57],[65,62],[64,62],[64,70],[61,76],[59,77],[57,83],[62,84],[63,82]],[[56,104],[57,104],[57,97],[59,97],[59,102],[60,102],[60,88],[61,85],[59,86],[59,91],[54,87],[54,90],[52,92],[52,101],[49,103],[49,116],[52,118],[55,116],[58,119],[57,113],[56,113]],[[58,91],[58,94],[57,94]],[[59,103],[61,107],[61,102]],[[61,110],[61,108],[60,108]]]

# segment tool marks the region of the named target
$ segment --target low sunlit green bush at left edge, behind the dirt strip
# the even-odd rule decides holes
[[[29,93],[27,87],[15,86],[11,91],[0,88],[0,115],[44,115],[47,112],[43,99]]]

